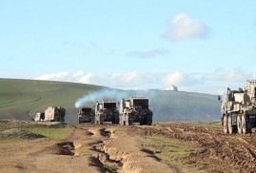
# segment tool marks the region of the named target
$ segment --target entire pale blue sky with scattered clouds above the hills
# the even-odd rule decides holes
[[[0,78],[222,94],[256,79],[256,1],[0,0]]]

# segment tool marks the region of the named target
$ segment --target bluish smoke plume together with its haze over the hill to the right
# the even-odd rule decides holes
[[[105,88],[90,92],[78,99],[76,107],[95,106],[96,102],[112,99],[116,103],[122,98],[146,97],[153,112],[153,122],[209,121],[220,116],[220,104],[214,95],[175,92],[166,90],[119,90]],[[207,117],[210,115],[210,117]]]

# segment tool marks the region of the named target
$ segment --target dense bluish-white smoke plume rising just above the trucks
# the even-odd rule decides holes
[[[120,102],[122,98],[128,98],[129,94],[127,91],[105,88],[100,91],[91,92],[88,95],[84,95],[82,98],[78,99],[75,103],[75,107],[83,106],[95,106],[96,102],[102,102],[103,100],[114,100],[115,102]]]

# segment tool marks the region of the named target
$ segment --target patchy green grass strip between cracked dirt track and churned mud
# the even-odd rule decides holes
[[[188,142],[180,142],[175,139],[164,137],[147,137],[150,139],[150,147],[159,151],[155,153],[155,156],[161,161],[168,163],[172,166],[189,170],[189,172],[203,173],[204,170],[196,170],[189,167],[187,158],[191,152],[195,152],[197,149],[196,144]]]

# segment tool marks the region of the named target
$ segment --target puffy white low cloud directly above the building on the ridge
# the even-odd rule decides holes
[[[180,71],[176,71],[172,74],[167,74],[167,76],[164,78],[164,84],[167,87],[171,85],[175,85],[178,87],[192,86],[197,84],[198,82],[199,81],[192,75],[188,75]]]

